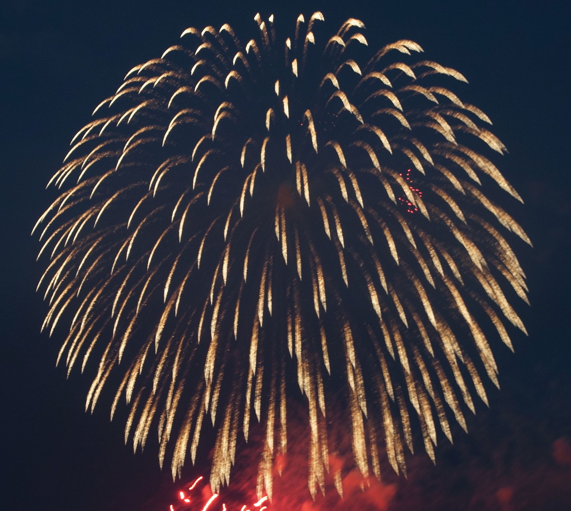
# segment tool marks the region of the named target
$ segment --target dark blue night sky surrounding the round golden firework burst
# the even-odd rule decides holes
[[[529,277],[529,338],[496,352],[501,391],[488,385],[469,436],[436,449],[436,468],[410,458],[408,480],[387,473],[389,510],[571,509],[571,168],[566,2],[0,2],[2,173],[2,509],[167,509],[178,485],[154,445],[132,454],[108,408],[83,413],[89,378],[55,368],[57,339],[41,335],[31,227],[47,180],[95,105],[134,65],[159,57],[188,26],[230,23],[242,39],[274,13],[291,30],[321,10],[331,30],[348,17],[377,45],[420,43],[468,78],[461,98],[480,107],[510,154],[500,169],[525,206],[512,210],[534,244],[515,245]],[[282,2],[279,2],[282,4]],[[185,478],[194,474],[190,467]]]

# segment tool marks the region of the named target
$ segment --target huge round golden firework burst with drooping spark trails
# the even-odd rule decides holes
[[[122,375],[111,417],[125,399],[135,450],[156,426],[173,477],[211,422],[214,492],[259,422],[271,497],[296,380],[315,496],[339,396],[363,477],[380,477],[383,438],[405,472],[413,429],[433,460],[437,425],[466,429],[482,371],[498,385],[484,332],[509,348],[505,320],[525,332],[504,235],[530,242],[482,192],[521,201],[471,148],[505,151],[448,89],[463,75],[414,61],[413,41],[371,49],[357,19],[328,37],[321,13],[300,15],[285,41],[272,16],[255,21],[246,45],[229,25],[185,30],[75,135],[34,229],[43,329],[69,329],[58,362],[94,373],[86,409]]]

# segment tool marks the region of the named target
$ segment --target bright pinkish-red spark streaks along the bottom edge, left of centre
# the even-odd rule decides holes
[[[203,476],[196,478],[187,488],[186,491],[179,491],[179,502],[171,504],[169,511],[234,511],[220,500],[218,493],[212,493]],[[268,497],[264,496],[253,504],[243,504],[235,511],[270,511],[269,505]]]

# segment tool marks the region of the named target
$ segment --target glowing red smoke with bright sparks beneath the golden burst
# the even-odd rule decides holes
[[[288,442],[286,454],[276,454],[272,466],[272,494],[268,493],[264,481],[256,476],[257,445],[265,442],[266,437],[264,428],[255,425],[248,448],[236,460],[235,477],[230,486],[215,492],[206,473],[203,477],[197,474],[187,484],[175,487],[176,502],[165,511],[388,511],[397,491],[396,474],[393,476],[388,462],[383,465],[386,476],[383,480],[355,469],[351,436],[340,426],[343,410],[329,411],[338,449],[329,453],[329,470],[324,475],[323,488],[315,496],[307,488],[309,472],[305,463],[310,439],[303,429],[306,417],[303,405],[292,404],[289,410],[292,441]]]

